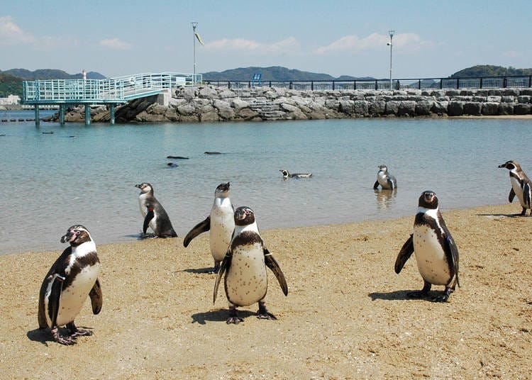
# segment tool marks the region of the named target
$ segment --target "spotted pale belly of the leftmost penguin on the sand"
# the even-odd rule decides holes
[[[92,265],[92,267],[84,267],[70,286],[67,286],[66,289],[63,288],[59,301],[59,312],[57,313],[58,326],[72,322],[79,314],[98,278],[99,268],[99,263]]]

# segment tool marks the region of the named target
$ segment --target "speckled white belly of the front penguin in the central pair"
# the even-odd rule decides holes
[[[242,245],[233,250],[226,276],[226,295],[235,306],[249,306],[266,296],[267,273],[260,243]]]

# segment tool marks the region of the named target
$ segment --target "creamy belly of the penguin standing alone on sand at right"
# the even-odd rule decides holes
[[[447,257],[434,230],[428,225],[414,228],[414,255],[419,274],[425,281],[434,285],[447,285],[450,276]]]

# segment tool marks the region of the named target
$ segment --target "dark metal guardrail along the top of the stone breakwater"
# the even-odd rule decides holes
[[[248,89],[257,87],[252,81],[209,81],[206,84],[228,89]],[[335,90],[389,90],[389,79],[372,80],[318,80],[318,81],[262,81],[262,86],[294,89],[300,91]],[[478,78],[426,78],[393,79],[393,89],[499,89],[506,87],[525,88],[532,86],[532,75],[519,77],[478,77]]]

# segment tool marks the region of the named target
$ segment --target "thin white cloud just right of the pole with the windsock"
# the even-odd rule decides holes
[[[294,37],[285,38],[275,43],[260,43],[244,38],[223,38],[206,43],[205,47],[213,50],[241,50],[264,54],[294,52],[294,50],[300,49],[300,45]]]

